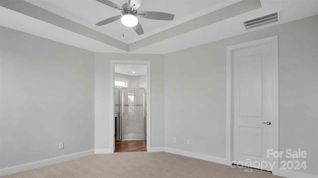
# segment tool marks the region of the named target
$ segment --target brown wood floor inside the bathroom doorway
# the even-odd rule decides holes
[[[115,152],[147,151],[147,140],[118,141],[116,140]]]

